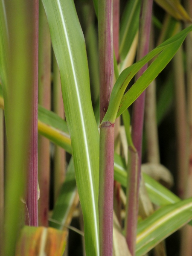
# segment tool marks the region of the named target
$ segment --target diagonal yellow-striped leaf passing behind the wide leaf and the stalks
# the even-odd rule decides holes
[[[3,93],[0,86],[0,102],[1,101],[3,102]],[[59,127],[61,127],[61,130]],[[53,143],[60,145],[68,153],[71,153],[71,142],[66,122],[55,113],[47,111],[41,106],[39,106],[38,131],[48,139],[51,137]],[[180,201],[179,197],[169,191],[169,189],[166,189],[166,187],[162,186],[159,182],[145,173],[143,173],[143,176],[149,197],[154,204],[162,206]],[[117,180],[124,187],[127,186],[125,159],[116,153],[114,154],[114,180]]]

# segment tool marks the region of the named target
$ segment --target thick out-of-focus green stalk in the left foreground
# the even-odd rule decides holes
[[[15,255],[20,222],[20,198],[26,186],[31,138],[32,88],[34,85],[34,1],[5,2],[9,28],[6,100],[5,256]],[[37,26],[38,27],[38,26]],[[37,79],[36,79],[37,80]],[[9,86],[8,86],[9,85]],[[37,191],[37,183],[35,184]],[[37,194],[37,193],[36,193]],[[37,198],[36,198],[37,199]],[[37,200],[36,200],[37,202]],[[37,214],[36,214],[36,217]]]

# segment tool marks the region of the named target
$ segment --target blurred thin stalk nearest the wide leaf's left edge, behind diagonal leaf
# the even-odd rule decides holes
[[[53,53],[53,110],[64,119],[64,105],[61,93],[61,79],[58,64]],[[55,145],[54,154],[54,201],[58,198],[61,185],[65,179],[66,152],[63,148]]]

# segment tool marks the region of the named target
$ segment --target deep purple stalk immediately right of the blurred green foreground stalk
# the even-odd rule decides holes
[[[35,6],[35,40],[34,40],[34,84],[32,91],[31,139],[29,145],[29,169],[26,183],[26,207],[29,226],[38,227],[38,17],[39,1]]]

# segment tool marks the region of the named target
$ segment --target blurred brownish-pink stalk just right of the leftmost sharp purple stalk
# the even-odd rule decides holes
[[[51,107],[51,38],[44,6],[39,2],[39,104],[50,110]],[[41,196],[38,200],[38,221],[40,226],[48,227],[50,148],[49,140],[38,136],[38,180]]]

